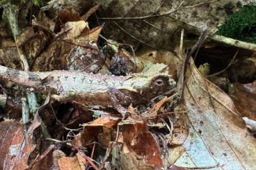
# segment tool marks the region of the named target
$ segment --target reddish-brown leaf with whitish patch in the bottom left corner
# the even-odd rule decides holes
[[[25,126],[17,121],[0,123],[0,169],[26,169],[30,153],[35,145],[24,135]]]

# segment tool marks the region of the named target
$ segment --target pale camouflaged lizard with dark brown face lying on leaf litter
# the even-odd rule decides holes
[[[122,105],[150,101],[154,97],[175,88],[175,80],[168,75],[168,67],[153,65],[147,71],[129,76],[88,74],[80,71],[19,71],[0,66],[0,79],[35,91],[51,92],[51,98],[58,101],[77,101],[87,105],[113,105],[108,94],[115,88],[130,96],[117,96]]]

